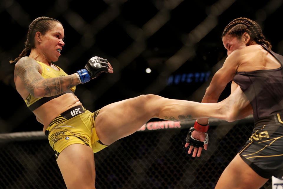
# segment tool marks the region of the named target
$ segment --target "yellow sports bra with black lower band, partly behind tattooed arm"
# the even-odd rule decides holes
[[[53,69],[50,66],[47,66],[46,64],[37,61],[37,63],[39,63],[42,66],[42,74],[41,76],[43,78],[52,78],[52,77],[62,77],[62,76],[67,76],[68,74],[65,73],[65,71],[63,71],[61,68],[59,68],[57,66],[57,68],[59,68],[58,70]],[[66,93],[74,93],[76,90],[76,87],[72,87],[70,89],[68,89],[67,91],[61,93],[61,94],[57,94],[55,96],[52,97],[41,97],[41,98],[35,98],[34,96],[32,96],[32,94],[29,94],[26,98],[26,100],[24,100],[24,102],[26,102],[27,107],[29,107],[29,109],[31,111],[37,109],[38,107],[40,107],[41,105],[43,105],[44,103],[57,98],[59,96],[61,96],[62,94],[66,94]]]

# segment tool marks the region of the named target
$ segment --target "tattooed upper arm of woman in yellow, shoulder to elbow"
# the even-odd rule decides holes
[[[30,57],[21,58],[15,65],[15,75],[22,79],[24,87],[33,96],[37,90],[36,84],[43,80],[39,70],[40,65]]]

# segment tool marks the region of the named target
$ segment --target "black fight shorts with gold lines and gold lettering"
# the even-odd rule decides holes
[[[240,157],[261,177],[283,177],[283,113],[256,121]]]

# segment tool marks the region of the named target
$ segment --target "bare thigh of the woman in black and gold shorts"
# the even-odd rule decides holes
[[[223,171],[215,189],[259,189],[267,180],[254,172],[237,154]]]

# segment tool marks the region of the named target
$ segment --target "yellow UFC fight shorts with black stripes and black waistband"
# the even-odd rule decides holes
[[[90,112],[83,106],[75,106],[57,116],[46,128],[45,135],[55,151],[56,161],[63,149],[71,144],[84,144],[96,153],[104,145],[96,134],[95,118],[99,110]]]

